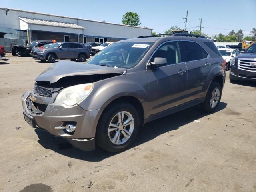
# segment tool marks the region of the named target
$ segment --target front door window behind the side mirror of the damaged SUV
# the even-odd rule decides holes
[[[167,60],[167,64],[174,64],[180,62],[180,51],[178,42],[168,42],[160,46],[160,48],[154,53],[151,61],[154,61],[155,57],[164,57]]]

